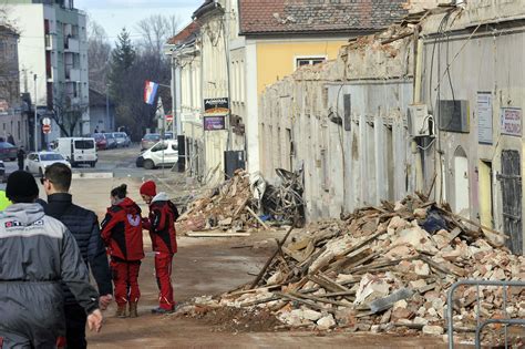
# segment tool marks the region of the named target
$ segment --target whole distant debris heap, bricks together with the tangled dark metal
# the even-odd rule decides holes
[[[177,220],[177,233],[224,230],[244,233],[305,220],[302,173],[277,170],[279,185],[266,183],[260,174],[238,170],[235,175],[188,204]]]

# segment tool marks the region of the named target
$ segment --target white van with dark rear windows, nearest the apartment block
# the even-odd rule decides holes
[[[96,142],[95,138],[86,137],[61,137],[54,142],[54,148],[56,153],[62,154],[70,163],[72,167],[79,164],[87,164],[94,167],[99,161],[96,155]]]

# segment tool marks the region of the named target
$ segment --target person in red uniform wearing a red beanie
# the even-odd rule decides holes
[[[143,226],[150,230],[153,250],[155,252],[155,274],[159,288],[157,308],[153,314],[168,314],[175,309],[172,287],[172,260],[177,252],[175,220],[177,207],[165,193],[156,193],[156,185],[147,181],[141,186],[141,196],[150,205],[150,216],[143,219]]]

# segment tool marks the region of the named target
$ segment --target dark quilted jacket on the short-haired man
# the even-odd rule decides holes
[[[113,286],[111,281],[110,266],[105,254],[104,243],[99,228],[99,217],[92,211],[80,207],[72,202],[71,194],[56,193],[48,196],[48,204],[44,204],[47,215],[59,219],[71,232],[80,253],[87,268],[91,271],[99,287],[101,295],[112,295]],[[76,304],[71,291],[64,285],[65,304]]]

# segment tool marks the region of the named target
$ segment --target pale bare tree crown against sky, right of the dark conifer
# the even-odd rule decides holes
[[[177,33],[177,16],[152,14],[141,20],[136,29],[142,35],[140,45],[146,52],[161,53],[167,40]]]

